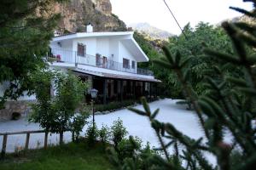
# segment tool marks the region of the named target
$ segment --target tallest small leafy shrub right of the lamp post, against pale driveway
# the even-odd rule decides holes
[[[120,118],[113,122],[113,126],[111,127],[111,139],[113,140],[115,150],[118,150],[119,142],[125,138],[127,133],[123,121]]]

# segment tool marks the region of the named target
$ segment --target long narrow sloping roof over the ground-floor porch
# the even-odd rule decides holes
[[[105,77],[105,78],[122,79],[122,80],[135,80],[135,81],[141,81],[141,82],[161,82],[158,79],[150,78],[146,76],[145,77],[126,76],[126,75],[103,73],[103,72],[97,72],[97,71],[88,71],[84,69],[75,69],[73,71],[81,74],[96,76],[96,77]]]

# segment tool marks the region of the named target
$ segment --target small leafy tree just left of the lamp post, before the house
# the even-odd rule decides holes
[[[38,71],[32,76],[32,82],[38,102],[32,105],[30,121],[40,123],[46,132],[60,133],[60,143],[67,130],[73,131],[77,138],[89,116],[83,105],[87,83],[71,73],[58,71]],[[51,88],[55,89],[54,97]]]

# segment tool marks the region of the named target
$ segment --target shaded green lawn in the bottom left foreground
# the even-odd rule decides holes
[[[6,156],[0,161],[2,170],[108,170],[113,169],[102,146],[67,144],[48,150],[29,150],[26,154]]]

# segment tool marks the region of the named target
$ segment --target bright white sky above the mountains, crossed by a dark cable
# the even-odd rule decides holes
[[[163,0],[110,1],[113,14],[117,14],[128,26],[147,22],[177,35],[181,32]],[[166,0],[166,3],[182,27],[188,23],[194,27],[200,21],[218,24],[241,15],[230,9],[230,6],[252,9],[252,3],[242,3],[242,0]]]

